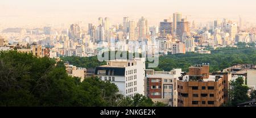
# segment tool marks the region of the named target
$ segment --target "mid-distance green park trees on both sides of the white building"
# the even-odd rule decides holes
[[[82,68],[95,68],[96,66],[105,65],[97,57],[62,57],[63,61]],[[146,67],[150,62],[146,62]],[[152,68],[157,71],[170,71],[180,68],[188,71],[189,66],[198,64],[210,65],[210,72],[220,71],[229,68],[235,64],[256,64],[256,50],[254,48],[234,48],[212,50],[211,54],[186,53],[170,54],[159,57],[159,66]],[[147,68],[149,69],[149,68]]]

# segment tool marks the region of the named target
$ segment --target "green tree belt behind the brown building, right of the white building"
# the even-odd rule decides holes
[[[203,63],[210,64],[210,71],[219,71],[234,64],[256,64],[256,50],[236,48],[215,50],[211,54],[187,53],[161,56],[158,68],[154,69],[170,71],[174,68],[181,68],[188,71],[189,66]]]

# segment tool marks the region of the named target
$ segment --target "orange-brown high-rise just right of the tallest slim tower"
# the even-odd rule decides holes
[[[190,33],[190,23],[187,22],[187,19],[181,19],[181,22],[177,22],[176,35],[181,38],[183,33]]]

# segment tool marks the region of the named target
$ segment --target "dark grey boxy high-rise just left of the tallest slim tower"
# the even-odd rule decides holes
[[[159,31],[160,35],[172,35],[172,23],[164,19],[163,22],[160,22]]]

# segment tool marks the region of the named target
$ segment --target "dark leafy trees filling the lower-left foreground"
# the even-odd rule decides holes
[[[142,95],[130,99],[118,93],[113,83],[70,77],[63,62],[0,52],[0,106],[166,106]]]

